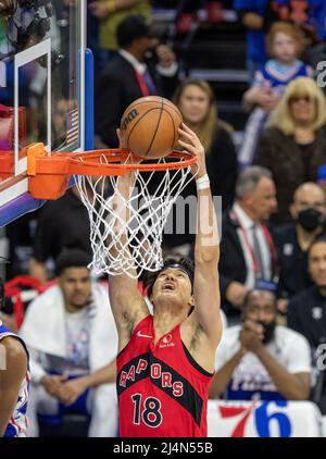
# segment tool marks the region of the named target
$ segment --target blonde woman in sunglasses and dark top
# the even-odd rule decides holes
[[[304,182],[315,182],[326,162],[326,101],[306,77],[289,84],[262,135],[255,163],[272,171],[277,190],[275,223],[290,221],[291,198]]]

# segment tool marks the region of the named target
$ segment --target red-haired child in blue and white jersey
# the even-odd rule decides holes
[[[244,107],[250,110],[255,107],[246,125],[239,153],[243,165],[252,163],[268,115],[284,95],[286,86],[300,76],[313,75],[313,70],[298,60],[303,44],[303,34],[299,27],[281,22],[272,25],[266,36],[266,48],[273,59],[255,73],[251,88],[243,95]]]

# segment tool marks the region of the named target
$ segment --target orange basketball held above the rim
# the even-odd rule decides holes
[[[167,156],[177,145],[179,110],[170,100],[158,96],[141,97],[124,112],[121,133],[133,153],[158,159]]]

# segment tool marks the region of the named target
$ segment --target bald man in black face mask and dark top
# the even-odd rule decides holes
[[[279,253],[280,297],[278,308],[287,310],[287,300],[310,287],[308,250],[316,236],[325,232],[326,195],[323,188],[312,182],[300,185],[290,206],[293,222],[276,231],[276,246]]]

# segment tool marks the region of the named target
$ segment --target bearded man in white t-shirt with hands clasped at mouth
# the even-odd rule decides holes
[[[242,324],[227,328],[216,352],[210,397],[230,400],[306,400],[310,347],[299,333],[276,324],[276,296],[254,289]]]

